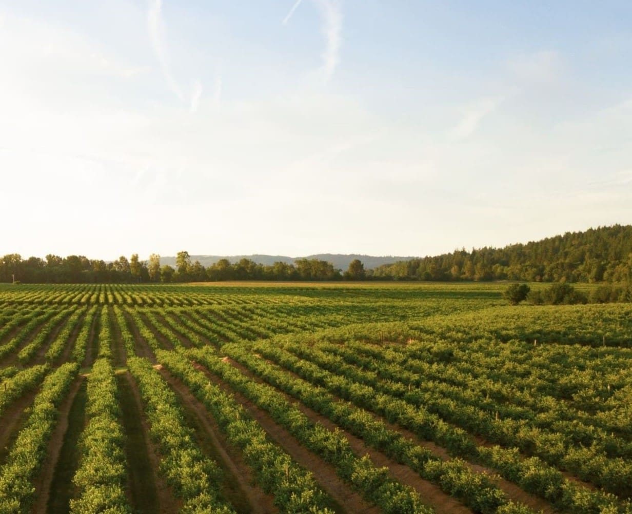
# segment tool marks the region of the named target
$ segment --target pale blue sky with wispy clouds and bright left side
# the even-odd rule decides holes
[[[0,0],[0,255],[632,223],[632,3]]]

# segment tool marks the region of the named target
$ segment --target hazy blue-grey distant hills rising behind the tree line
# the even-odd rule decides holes
[[[215,264],[220,259],[228,259],[231,264],[239,262],[241,259],[250,259],[257,264],[263,264],[264,266],[270,266],[275,262],[286,262],[287,264],[293,264],[298,259],[318,259],[326,260],[334,265],[334,268],[346,271],[349,267],[349,262],[353,259],[362,260],[365,269],[373,269],[378,266],[384,266],[384,264],[392,264],[399,260],[413,259],[413,257],[396,257],[393,255],[386,255],[384,257],[376,257],[375,255],[359,255],[359,254],[315,254],[307,255],[305,257],[288,257],[287,255],[191,255],[191,262],[196,260],[200,261],[200,264],[204,267]],[[176,266],[176,257],[161,257],[161,264],[169,264],[169,266]]]

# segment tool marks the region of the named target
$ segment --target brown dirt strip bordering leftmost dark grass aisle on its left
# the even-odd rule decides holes
[[[35,503],[33,503],[32,513],[46,512],[46,505],[48,504],[51,492],[52,477],[55,473],[61,447],[64,444],[64,436],[68,430],[70,408],[73,405],[73,400],[75,400],[75,395],[79,391],[83,380],[84,377],[80,376],[73,382],[66,398],[64,398],[64,401],[59,405],[58,422],[52,431],[51,440],[48,443],[46,459],[42,464],[39,475],[33,480],[33,485],[35,486]]]

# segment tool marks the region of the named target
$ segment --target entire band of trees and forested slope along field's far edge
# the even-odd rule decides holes
[[[0,281],[23,283],[126,283],[223,280],[521,280],[568,282],[629,282],[632,280],[632,225],[590,228],[567,232],[537,242],[504,248],[473,248],[449,254],[401,260],[375,269],[364,269],[354,260],[343,273],[322,259],[298,259],[294,264],[257,264],[250,259],[231,263],[221,259],[205,267],[191,262],[188,252],[178,252],[176,266],[161,265],[160,255],[149,260],[134,254],[128,260],[88,259],[83,255],[45,259],[19,254],[0,258]]]

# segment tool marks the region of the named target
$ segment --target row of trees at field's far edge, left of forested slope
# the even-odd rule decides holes
[[[346,272],[334,269],[331,262],[318,259],[298,259],[294,264],[275,262],[271,266],[250,259],[231,263],[218,260],[204,267],[198,260],[191,262],[188,252],[178,252],[176,266],[161,265],[158,254],[149,260],[130,259],[121,255],[117,260],[88,259],[83,255],[46,255],[22,259],[19,254],[0,258],[0,282],[20,283],[147,283],[202,282],[225,280],[341,280],[365,278],[364,266],[356,259]]]

